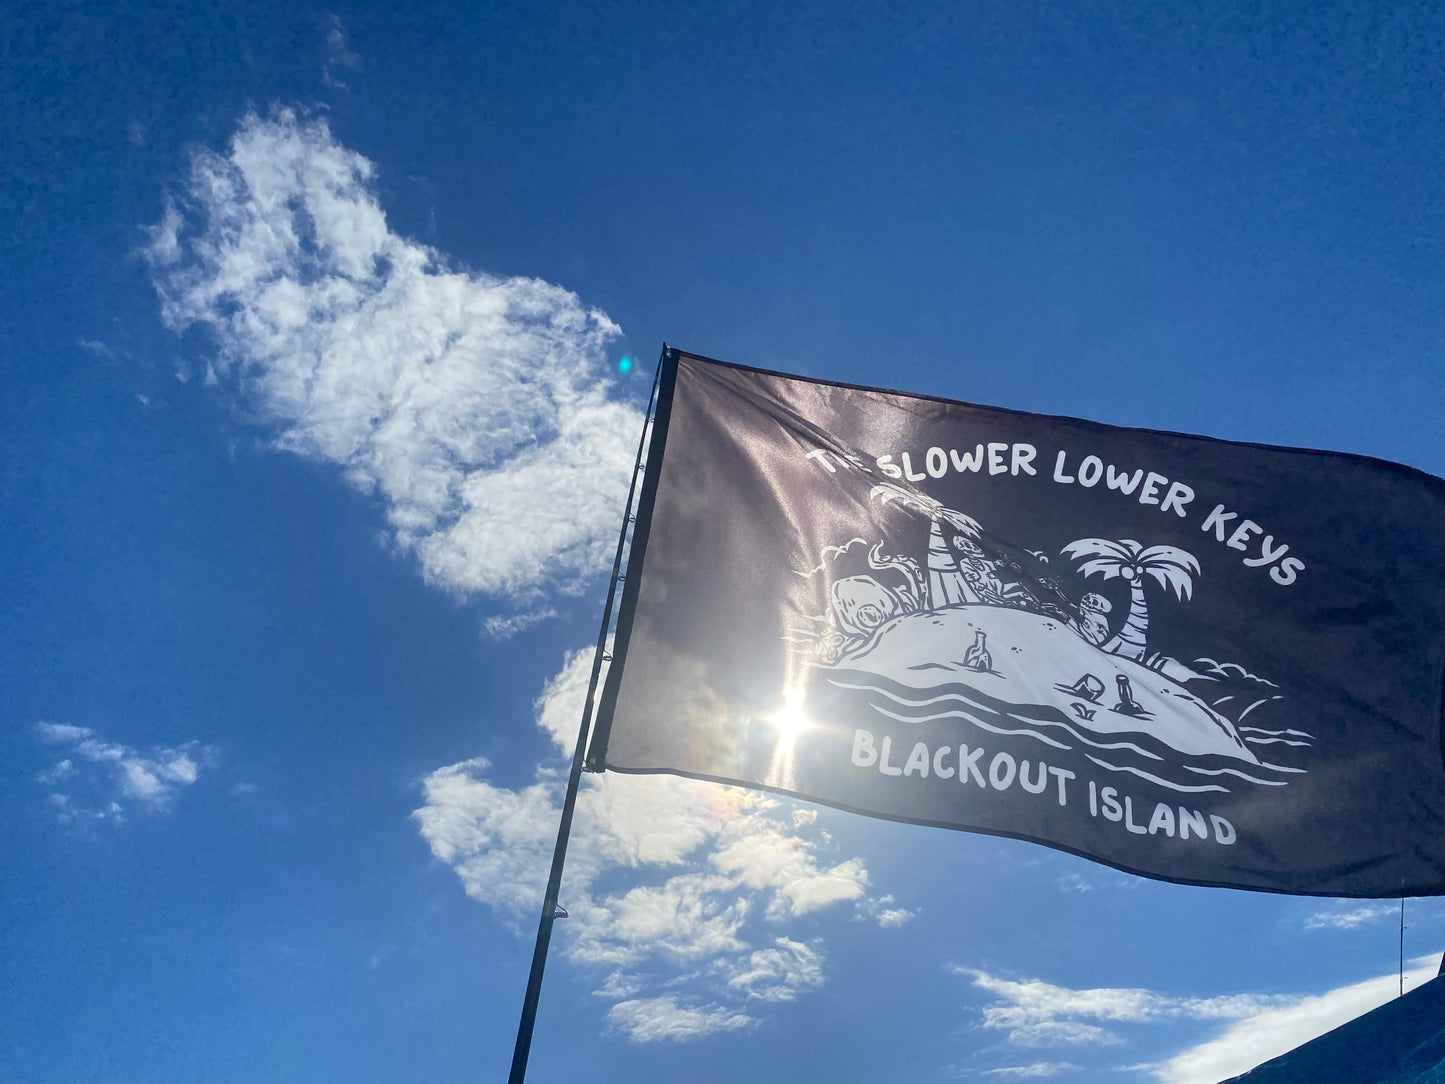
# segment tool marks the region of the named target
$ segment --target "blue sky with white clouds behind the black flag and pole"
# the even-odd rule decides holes
[[[663,340],[1445,474],[1433,6],[0,23],[4,1080],[501,1077]],[[536,1081],[1212,1081],[1397,981],[1396,902],[663,778],[562,902]]]

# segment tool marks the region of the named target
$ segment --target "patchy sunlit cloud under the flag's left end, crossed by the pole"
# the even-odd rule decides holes
[[[559,750],[575,737],[590,663],[588,652],[569,655],[536,701]],[[488,772],[480,759],[432,772],[413,818],[467,893],[520,931],[540,905],[562,780],[543,770],[512,789]],[[824,945],[790,924],[870,903],[863,861],[827,850],[814,809],[689,779],[585,776],[562,893],[571,918],[553,945],[605,968],[597,993],[614,1002],[608,1023],[634,1041],[746,1026],[760,1006],[824,983]],[[630,872],[621,885],[617,870]]]

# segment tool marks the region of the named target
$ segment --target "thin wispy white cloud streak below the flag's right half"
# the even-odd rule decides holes
[[[1256,1016],[1296,999],[1228,994],[1173,997],[1143,989],[1095,987],[1071,990],[1038,978],[1014,981],[974,968],[955,967],[980,990],[997,999],[985,1006],[984,1028],[1006,1031],[1019,1046],[1107,1045],[1121,1042],[1104,1023],[1146,1023],[1162,1019],[1228,1020]]]

